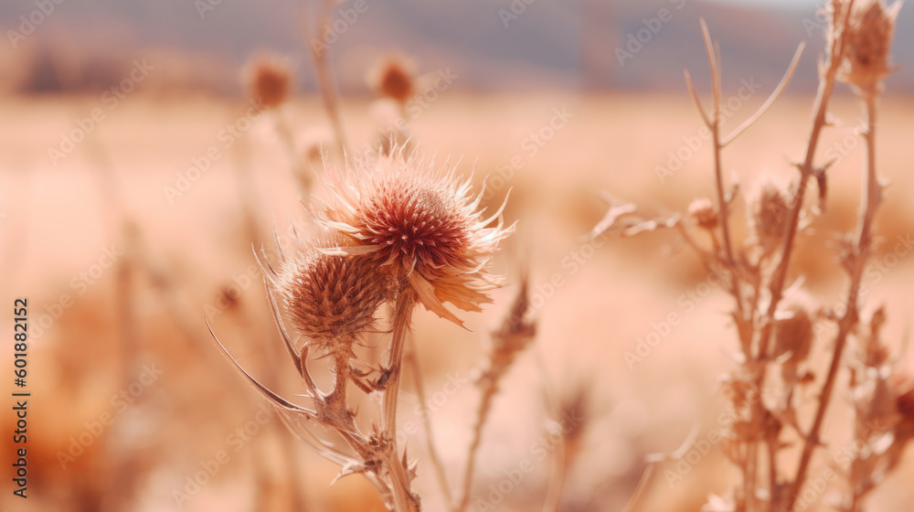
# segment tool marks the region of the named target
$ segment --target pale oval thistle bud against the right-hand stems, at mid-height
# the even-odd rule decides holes
[[[769,176],[761,176],[746,198],[749,230],[765,251],[770,251],[787,229],[790,205],[783,188]]]

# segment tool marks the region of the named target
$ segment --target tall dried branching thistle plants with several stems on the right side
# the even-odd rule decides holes
[[[723,381],[734,417],[723,448],[739,468],[741,483],[729,496],[712,496],[707,510],[794,509],[804,490],[813,454],[816,448],[826,445],[824,419],[842,368],[851,370],[855,376],[849,392],[854,397],[857,419],[855,443],[861,449],[845,468],[850,492],[837,506],[853,512],[863,510],[864,497],[898,464],[900,452],[910,439],[910,399],[903,398],[909,397],[909,381],[898,378],[892,371],[887,347],[879,339],[884,310],[877,309],[867,324],[860,319],[861,278],[873,251],[873,226],[883,188],[875,158],[877,97],[882,91],[882,80],[891,70],[888,54],[899,6],[900,3],[887,7],[881,0],[829,3],[827,53],[819,67],[819,89],[805,155],[795,165],[799,176],[789,187],[762,176],[745,197],[749,235],[741,243],[734,239],[729,227],[729,213],[738,200],[739,188],[736,184],[726,186],[721,153],[760,118],[783,90],[796,68],[802,47],[769,100],[733,133],[724,135],[720,132],[718,52],[702,21],[713,89],[711,112],[701,106],[687,71],[685,80],[698,112],[713,135],[717,205],[698,199],[685,217],[649,219],[640,215],[633,205],[614,204],[592,233],[596,236],[609,232],[626,237],[674,228],[698,251],[709,270],[726,271],[725,283],[734,301],[731,318],[736,326],[740,354],[738,368]],[[849,85],[864,105],[866,162],[856,233],[845,237],[838,254],[849,277],[846,302],[843,307],[828,308],[815,304],[802,292],[802,281],[788,286],[787,276],[798,233],[809,217],[824,210],[810,208],[804,199],[814,180],[820,203],[824,200],[831,163],[815,164],[814,157],[820,134],[827,126],[828,101],[836,82]],[[710,235],[710,248],[692,233],[695,228]],[[826,346],[830,360],[818,400],[808,404],[799,391],[815,382],[808,358],[815,345],[826,342],[821,339],[824,336],[815,336],[820,331],[832,337]],[[850,339],[858,345],[856,362],[845,361],[845,347]],[[804,425],[799,421],[799,411],[807,406],[813,410],[813,421]],[[792,443],[799,445],[796,461],[782,455]]]

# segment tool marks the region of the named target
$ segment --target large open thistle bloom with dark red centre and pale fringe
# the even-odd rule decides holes
[[[485,292],[501,278],[485,266],[514,228],[504,227],[501,208],[484,219],[482,195],[473,197],[454,171],[415,152],[407,158],[402,147],[358,155],[328,184],[334,197],[317,217],[348,240],[336,254],[365,255],[401,291],[411,288],[430,311],[462,325],[442,303],[480,311],[491,302]]]

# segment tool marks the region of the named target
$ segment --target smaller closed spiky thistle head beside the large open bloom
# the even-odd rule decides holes
[[[367,258],[327,254],[337,237],[297,240],[274,279],[295,331],[326,352],[352,353],[388,294],[385,276]]]

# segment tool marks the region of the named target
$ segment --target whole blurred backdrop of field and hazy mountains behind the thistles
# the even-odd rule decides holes
[[[821,6],[348,0],[322,26],[317,3],[289,0],[0,4],[0,288],[8,309],[15,297],[28,298],[32,393],[29,498],[13,496],[5,474],[0,507],[383,510],[359,475],[329,486],[338,468],[286,432],[204,323],[272,389],[292,399],[303,392],[250,248],[269,245],[273,229],[289,240],[292,225],[309,226],[296,169],[319,176],[322,150],[339,163],[310,54],[319,47],[351,147],[385,140],[391,116],[403,114],[420,151],[459,162],[458,173],[472,173],[477,186],[489,176],[484,206],[497,208],[512,189],[505,219],[518,227],[494,261],[508,276],[494,304],[463,315],[470,332],[427,312],[415,319],[434,438],[452,485],[479,396],[473,376],[526,268],[537,341],[495,399],[471,509],[539,510],[561,464],[561,411],[583,403],[581,448],[566,468],[560,509],[621,510],[645,455],[675,450],[693,428],[699,436],[719,428],[717,382],[731,367],[735,337],[728,297],[672,233],[582,237],[609,196],[668,213],[713,194],[712,147],[683,80],[687,68],[707,98],[700,17],[719,42],[731,128],[768,97],[806,41],[785,94],[724,154],[745,188],[763,174],[792,178],[824,48]],[[867,304],[887,304],[887,335],[909,368],[914,360],[902,348],[914,252],[892,251],[914,233],[912,28],[914,11],[902,9],[899,69],[886,80],[877,140],[880,173],[892,183],[878,223],[885,243],[865,283]],[[289,100],[266,111],[251,106],[244,70],[263,55],[292,75]],[[390,55],[416,80],[405,114],[370,86]],[[828,208],[800,239],[795,265],[825,304],[839,301],[844,274],[836,248],[810,248],[834,246],[852,229],[864,155],[850,91],[842,86],[831,110],[834,126],[819,152],[835,162]],[[0,318],[11,332],[11,312]],[[10,344],[0,367],[12,369],[13,358]],[[417,389],[404,381],[401,417],[420,424]],[[834,411],[840,436],[849,413]],[[0,415],[5,461],[16,448],[8,412]],[[409,439],[409,455],[420,460],[415,486],[425,509],[444,510],[426,435],[420,428]],[[528,464],[519,481],[509,477]],[[714,446],[673,470],[651,480],[638,509],[697,510],[734,476]],[[907,509],[912,474],[909,456],[872,497],[874,509]],[[825,509],[827,496],[819,498],[814,507]]]

